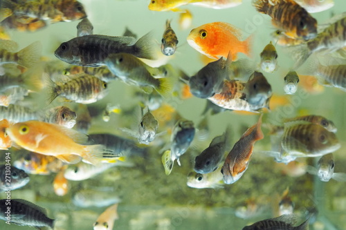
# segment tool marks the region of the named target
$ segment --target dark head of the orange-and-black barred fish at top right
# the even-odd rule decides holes
[[[302,8],[299,17],[294,17],[291,21],[292,25],[294,25],[295,35],[289,37],[295,39],[314,39],[317,36],[317,21],[309,13]]]

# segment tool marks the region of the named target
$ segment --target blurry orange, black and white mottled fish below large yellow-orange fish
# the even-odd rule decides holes
[[[30,174],[48,175],[58,173],[64,163],[56,157],[39,153],[28,152],[24,157],[14,162],[14,165]]]

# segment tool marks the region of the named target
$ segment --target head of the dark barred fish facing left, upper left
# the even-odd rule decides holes
[[[78,55],[78,46],[74,39],[70,41],[63,42],[60,46],[55,50],[54,55],[58,59],[65,61],[69,64],[80,65],[81,61]]]

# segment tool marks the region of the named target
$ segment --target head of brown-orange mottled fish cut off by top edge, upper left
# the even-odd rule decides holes
[[[64,14],[63,21],[75,21],[86,17],[86,12],[82,3],[69,0],[63,1],[62,5],[62,13]]]

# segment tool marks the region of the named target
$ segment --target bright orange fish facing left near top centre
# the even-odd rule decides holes
[[[252,36],[244,41],[241,39],[242,30],[229,23],[217,21],[191,30],[188,44],[203,55],[214,59],[226,59],[230,52],[232,60],[235,61],[238,52],[248,56],[251,54]]]

